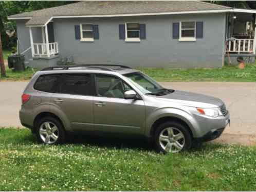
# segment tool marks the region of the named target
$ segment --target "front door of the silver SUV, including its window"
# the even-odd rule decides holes
[[[143,100],[124,99],[124,91],[132,89],[119,77],[95,74],[95,129],[113,133],[143,132],[145,106]]]

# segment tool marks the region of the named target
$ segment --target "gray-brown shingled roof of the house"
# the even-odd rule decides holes
[[[44,25],[52,16],[104,16],[223,9],[232,8],[199,1],[84,1],[11,15],[9,18],[31,17],[26,25]]]

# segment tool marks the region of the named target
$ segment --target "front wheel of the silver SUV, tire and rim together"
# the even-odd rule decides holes
[[[157,152],[177,153],[188,151],[192,136],[188,128],[176,121],[168,121],[157,127],[154,137]]]

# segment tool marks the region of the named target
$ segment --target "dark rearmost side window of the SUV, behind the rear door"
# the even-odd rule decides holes
[[[56,93],[61,75],[41,75],[34,84],[34,89],[43,92]]]

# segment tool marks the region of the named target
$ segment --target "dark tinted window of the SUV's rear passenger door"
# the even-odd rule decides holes
[[[93,95],[90,74],[64,74],[60,93],[72,95]]]

